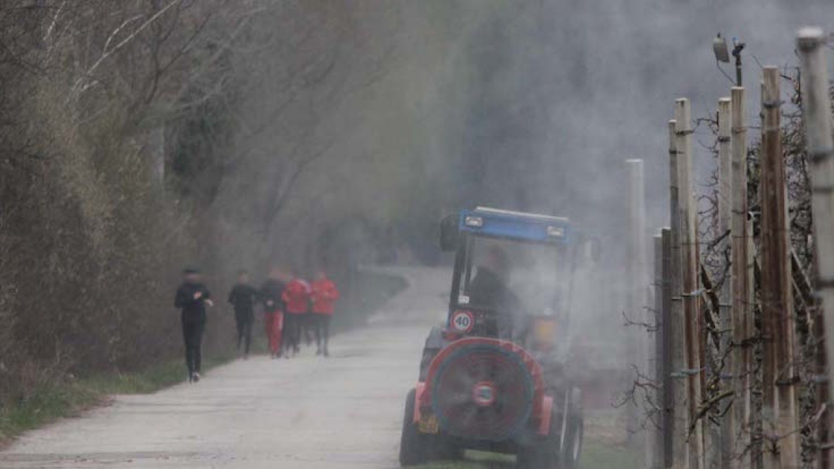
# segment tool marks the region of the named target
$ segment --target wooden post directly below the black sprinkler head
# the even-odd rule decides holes
[[[753,360],[750,338],[752,310],[747,300],[747,129],[745,127],[744,88],[731,90],[731,278],[732,278],[732,366],[733,376],[733,451],[739,467],[750,465],[750,373]]]

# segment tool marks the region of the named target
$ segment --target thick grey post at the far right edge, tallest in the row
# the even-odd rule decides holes
[[[826,63],[826,37],[819,28],[804,28],[796,39],[799,50],[802,103],[805,117],[808,159],[811,160],[811,211],[814,219],[815,259],[818,280],[816,289],[822,301],[826,363],[834,364],[834,138],[831,136],[831,97]],[[834,367],[828,366],[827,401],[831,402]],[[824,430],[831,421],[831,411],[823,416]],[[830,435],[823,432],[830,439]],[[831,467],[830,441],[821,441],[826,448],[818,458],[817,467]]]

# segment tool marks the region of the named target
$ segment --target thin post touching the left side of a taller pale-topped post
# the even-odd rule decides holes
[[[669,342],[671,349],[669,374],[671,386],[671,460],[674,469],[689,467],[688,446],[689,405],[686,376],[686,324],[683,315],[681,280],[681,204],[678,196],[677,124],[669,121],[669,198],[671,229],[669,233]]]

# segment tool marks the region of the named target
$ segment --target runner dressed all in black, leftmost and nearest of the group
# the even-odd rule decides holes
[[[211,293],[203,285],[196,269],[183,270],[183,283],[173,298],[175,308],[182,310],[183,340],[185,342],[185,365],[188,366],[188,381],[200,381],[201,345],[206,324],[206,306],[214,306]]]

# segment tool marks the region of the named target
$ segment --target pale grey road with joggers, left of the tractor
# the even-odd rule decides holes
[[[368,327],[336,335],[329,359],[302,346],[294,360],[255,356],[196,385],[116,396],[24,435],[0,466],[396,467],[405,394],[450,281],[447,270],[398,272],[409,288]]]

